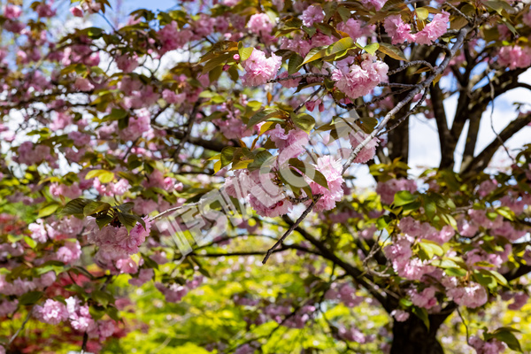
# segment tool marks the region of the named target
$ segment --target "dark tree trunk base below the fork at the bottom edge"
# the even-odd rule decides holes
[[[438,327],[431,327],[428,331],[415,315],[404,322],[395,321],[390,354],[443,354],[443,347],[435,337]]]

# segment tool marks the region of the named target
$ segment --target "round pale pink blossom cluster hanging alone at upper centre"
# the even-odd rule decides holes
[[[281,68],[282,58],[274,54],[266,58],[262,50],[253,50],[250,57],[243,62],[245,74],[242,76],[244,86],[259,86],[273,80]]]

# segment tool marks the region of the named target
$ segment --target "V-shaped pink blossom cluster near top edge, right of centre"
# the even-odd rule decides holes
[[[392,44],[399,44],[407,41],[430,45],[441,35],[446,33],[449,19],[450,13],[437,13],[431,22],[416,34],[411,33],[411,26],[404,23],[399,14],[388,16],[384,20],[383,26],[385,31],[391,37]]]

